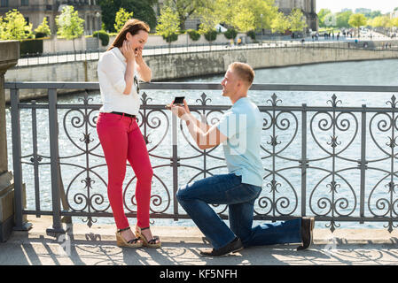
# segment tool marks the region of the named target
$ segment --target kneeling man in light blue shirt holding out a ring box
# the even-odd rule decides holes
[[[188,108],[168,105],[183,119],[199,149],[222,143],[228,174],[215,175],[181,187],[178,202],[211,242],[214,249],[201,251],[202,256],[226,256],[244,247],[302,242],[307,249],[312,241],[314,218],[297,218],[252,228],[254,201],[261,193],[263,168],[260,157],[262,117],[247,97],[254,80],[253,69],[232,63],[222,80],[222,96],[229,97],[232,107],[214,126],[195,119]],[[209,206],[228,204],[230,227]]]

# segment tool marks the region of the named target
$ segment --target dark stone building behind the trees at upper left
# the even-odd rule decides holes
[[[84,19],[84,34],[92,34],[101,28],[101,8],[98,0],[0,0],[0,16],[7,11],[17,9],[33,25],[38,27],[44,17],[47,17],[51,33],[55,34],[57,27],[55,17],[62,11],[63,5],[73,5],[79,11],[79,17]]]

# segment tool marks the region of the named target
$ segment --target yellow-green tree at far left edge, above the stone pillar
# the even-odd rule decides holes
[[[7,11],[5,18],[0,21],[0,39],[2,40],[21,40],[32,35],[32,24],[27,25],[27,21],[20,11],[12,9]]]

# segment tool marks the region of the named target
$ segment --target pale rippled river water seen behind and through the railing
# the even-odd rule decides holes
[[[292,67],[283,67],[283,68],[274,68],[274,69],[262,69],[255,71],[255,79],[254,83],[289,83],[289,84],[332,84],[332,85],[380,85],[380,86],[391,86],[398,85],[398,60],[379,60],[379,61],[363,61],[363,62],[349,62],[349,63],[332,63],[332,64],[319,64],[319,65],[303,65],[303,66],[292,66]],[[223,75],[215,75],[215,76],[207,76],[201,78],[193,78],[187,80],[176,80],[183,82],[221,82]],[[190,104],[198,104],[197,99],[200,99],[201,94],[204,91],[174,91],[174,90],[164,90],[164,91],[145,91],[146,94],[152,98],[152,101],[149,103],[153,104],[163,104],[169,103],[174,96],[185,96],[187,98],[188,103]],[[254,101],[254,103],[258,105],[269,105],[268,100],[270,96],[272,96],[273,92],[266,91],[251,91],[249,96]],[[230,105],[230,101],[227,98],[221,96],[220,91],[206,91],[207,98],[211,99],[209,104],[218,104],[218,105]],[[278,105],[284,106],[297,106],[302,103],[307,103],[308,106],[330,106],[327,101],[331,100],[331,96],[333,93],[329,92],[277,92],[278,99],[281,102]],[[390,100],[393,94],[379,94],[379,93],[338,93],[338,100],[341,101],[341,106],[357,106],[360,107],[362,104],[366,104],[371,107],[388,107],[386,102]],[[397,94],[395,94],[397,95]],[[82,95],[74,95],[74,96],[60,96],[59,103],[67,104],[67,103],[82,103],[79,99],[82,98]],[[90,98],[92,101],[90,103],[100,103],[99,94],[90,94]],[[38,100],[38,103],[45,103],[45,100]],[[98,166],[96,169],[91,172],[90,178],[94,180],[94,183],[91,184],[92,188],[90,190],[90,196],[87,194],[87,189],[85,188],[84,179],[86,178],[86,172],[82,171],[79,167],[76,166],[82,165],[85,166],[86,157],[80,155],[82,151],[77,149],[75,145],[78,145],[83,149],[85,146],[84,142],[82,142],[82,131],[84,130],[84,126],[82,125],[82,115],[78,111],[70,111],[68,110],[59,110],[59,148],[60,148],[60,156],[61,156],[61,171],[62,178],[64,182],[64,186],[67,190],[69,203],[74,207],[75,210],[87,210],[84,208],[85,204],[90,201],[96,210],[105,210],[110,211],[108,208],[109,203],[106,199],[105,194],[105,183],[106,181],[106,170],[104,166],[104,159],[102,157],[96,157],[95,155],[102,155],[102,150],[100,146],[98,146],[98,138],[94,128],[91,128],[90,138],[94,139],[95,142],[90,143],[91,152],[94,154],[90,156],[90,166]],[[313,118],[315,113],[312,113],[308,116],[308,120]],[[360,114],[356,113],[354,115],[346,114],[345,118],[341,117],[341,119],[346,121],[349,124],[349,129],[347,131],[343,131],[340,134],[337,134],[339,138],[339,144],[337,149],[342,149],[345,145],[349,144],[347,150],[345,150],[341,156],[347,159],[356,160],[358,159],[358,152],[360,152],[360,134],[355,135],[355,120],[359,123],[361,122]],[[93,118],[94,114],[91,119]],[[163,138],[163,134],[165,134],[165,122],[161,123],[164,118],[170,117],[170,113],[168,112],[157,112],[153,113],[152,117],[149,119],[152,121],[152,126],[154,129],[150,129],[149,140],[150,144],[148,145],[148,149],[152,154],[152,166],[154,167],[155,178],[153,180],[152,186],[152,195],[154,198],[152,199],[152,208],[155,211],[166,210],[168,213],[172,213],[173,211],[173,202],[170,200],[170,197],[165,189],[168,187],[169,189],[172,187],[172,180],[169,176],[172,176],[171,167],[168,165],[168,159],[165,157],[171,156],[171,142],[170,142],[170,134],[166,134]],[[65,117],[65,119],[64,119]],[[209,120],[217,117],[208,117]],[[218,116],[219,117],[219,116]],[[279,142],[282,142],[281,145],[278,145],[279,148],[282,149],[284,145],[289,142],[293,137],[292,144],[283,152],[281,156],[289,157],[292,159],[300,159],[300,113],[285,113],[285,117],[281,117],[280,119],[284,119],[285,121],[289,120],[289,129],[286,131],[281,131],[279,133]],[[299,121],[299,126],[295,118]],[[325,117],[314,117],[313,125],[317,126],[318,123],[321,123],[321,120]],[[7,119],[7,139],[8,139],[8,155],[9,155],[9,168],[12,168],[12,137],[11,137],[11,117],[10,111],[6,111],[6,119]],[[39,178],[40,178],[40,197],[41,197],[41,209],[42,210],[50,210],[51,209],[51,174],[50,174],[50,165],[49,159],[45,157],[50,156],[49,149],[49,139],[48,139],[48,111],[38,110],[37,111],[37,124],[38,124],[38,150],[41,155],[43,155],[42,165],[39,170]],[[81,119],[81,120],[79,120]],[[264,116],[266,119],[266,115]],[[21,111],[21,139],[22,139],[22,156],[27,156],[32,153],[32,126],[31,126],[31,112],[30,111]],[[159,123],[160,126],[156,127],[155,125]],[[280,121],[282,123],[282,121]],[[344,127],[344,121],[341,126]],[[377,121],[376,121],[377,123]],[[64,126],[65,125],[65,126]],[[75,126],[72,126],[75,125]],[[282,124],[281,124],[282,125]],[[280,126],[281,126],[280,125]],[[283,125],[281,126],[283,127]],[[297,134],[294,135],[294,129],[297,127]],[[359,128],[360,130],[360,128]],[[321,133],[319,129],[314,127],[314,137],[317,141],[320,141],[320,144],[324,146],[324,149],[328,150],[327,142],[329,142],[329,133],[325,132]],[[271,147],[268,145],[269,142],[269,134],[271,132],[265,131],[263,134],[263,147],[264,149],[270,150]],[[184,134],[187,134],[186,132]],[[329,134],[329,135],[328,135]],[[69,137],[67,137],[69,135]],[[353,136],[353,142],[351,142],[351,137]],[[187,134],[189,136],[189,134]],[[378,134],[376,136],[376,141],[379,144],[385,143],[386,136],[388,134]],[[191,139],[188,139],[191,141]],[[161,142],[162,141],[162,142]],[[157,145],[160,142],[159,145]],[[179,151],[178,156],[187,158],[192,157],[198,154],[198,151],[193,149],[191,146],[183,138],[183,134],[178,135],[178,144]],[[180,143],[181,142],[181,143]],[[340,148],[339,148],[340,147]],[[329,146],[329,149],[330,146]],[[384,147],[383,149],[386,149]],[[381,151],[378,150],[374,144],[370,145],[368,150],[367,159],[375,160],[380,156]],[[77,156],[76,156],[77,155]],[[261,157],[263,157],[264,167],[267,168],[271,166],[271,158],[266,151],[261,153]],[[310,162],[311,168],[308,169],[308,194],[307,194],[307,202],[309,204],[308,207],[308,215],[312,215],[313,211],[316,213],[326,213],[328,210],[327,207],[324,207],[322,204],[322,198],[324,196],[331,197],[331,187],[328,187],[328,184],[331,182],[331,178],[326,178],[322,180],[327,173],[322,170],[317,170],[316,168],[326,168],[327,170],[332,169],[332,158],[326,158],[324,160],[316,161],[315,159],[320,157],[325,157],[325,151],[320,149],[319,146],[314,142],[314,138],[311,140],[311,136],[309,134],[308,128],[308,159],[314,160]],[[207,168],[208,167],[217,167],[222,166],[223,161],[218,160],[216,157],[222,157],[222,149],[217,148],[212,151],[212,157],[207,160]],[[27,157],[26,160],[29,162],[30,157]],[[200,160],[199,160],[200,159]],[[203,166],[203,160],[201,158],[192,159],[183,159],[181,162],[183,165],[190,166]],[[396,167],[396,160],[394,161]],[[347,160],[339,160],[339,169],[346,168],[347,171],[341,173],[341,176],[336,176],[336,182],[339,183],[339,187],[336,190],[336,194],[338,192],[339,198],[341,201],[336,203],[339,206],[337,211],[339,211],[340,215],[350,215],[350,216],[359,216],[359,170],[349,169],[356,167],[356,163],[353,161]],[[384,163],[375,163],[374,167],[383,168],[387,171],[389,170],[389,166],[391,163],[389,160]],[[292,167],[292,169],[288,169]],[[30,164],[23,164],[23,178],[24,182],[27,184],[27,210],[35,210],[35,184],[34,184],[34,172],[33,166]],[[297,161],[287,161],[284,158],[277,158],[276,160],[276,168],[282,169],[279,171],[280,176],[277,176],[277,181],[280,183],[280,186],[277,187],[277,195],[276,198],[280,198],[277,201],[277,211],[280,213],[290,214],[291,211],[294,211],[293,215],[300,215],[300,169],[297,167]],[[285,168],[285,169],[284,169]],[[94,173],[95,172],[95,173]],[[225,168],[215,169],[211,171],[211,173],[222,173],[226,172]],[[182,166],[179,168],[179,185],[191,181],[191,180],[199,180],[203,178],[203,174],[199,174],[198,170],[192,169],[191,167]],[[389,198],[390,195],[386,194],[387,190],[385,187],[385,183],[388,180],[384,180],[382,183],[378,185],[378,181],[381,180],[386,174],[369,170],[367,173],[367,187],[366,187],[366,196],[365,196],[365,215],[371,217],[371,211],[376,215],[383,215],[386,212],[386,208],[382,208],[378,200],[380,198],[386,197]],[[272,180],[272,176],[266,178],[264,180],[263,191],[261,193],[264,197],[271,197],[270,188],[267,186],[270,180]],[[396,180],[394,180],[396,182]],[[126,180],[125,180],[125,188],[126,195],[124,195],[124,199],[127,203],[127,208],[129,210],[135,210],[134,201],[131,202],[131,198],[134,195],[135,186],[134,174],[131,168],[128,168]],[[377,186],[378,185],[378,186]],[[312,192],[312,193],[309,193]],[[160,195],[159,197],[156,195]],[[290,202],[284,200],[283,196],[292,197]],[[161,198],[161,202],[160,202]],[[398,194],[394,195],[394,200],[398,198]],[[344,199],[347,199],[347,203],[344,203]],[[264,198],[262,200],[266,202]],[[284,203],[285,202],[285,203]],[[327,206],[327,201],[325,201],[325,205]],[[259,213],[264,213],[265,211],[269,211],[270,205],[267,207],[261,207],[264,203],[256,203],[256,211]],[[369,207],[368,207],[369,206]],[[398,205],[396,205],[398,206]],[[180,212],[183,213],[183,209],[179,208]],[[223,207],[216,208],[217,211],[223,210]],[[312,211],[313,210],[313,211]],[[370,211],[371,210],[371,211]],[[92,209],[90,210],[92,211]],[[354,211],[354,212],[353,212]],[[397,211],[395,209],[394,211]],[[278,214],[277,212],[277,214]],[[352,213],[351,213],[352,212]],[[271,212],[272,214],[272,212]],[[331,214],[327,214],[330,216]],[[335,214],[336,215],[336,214]],[[389,215],[389,214],[388,214]],[[396,217],[396,214],[394,215]],[[96,218],[97,223],[113,223],[113,218]],[[78,218],[77,221],[82,221],[81,218]],[[193,223],[191,220],[178,220],[173,221],[172,219],[154,219],[155,225],[160,226],[170,226],[170,225],[183,225],[183,226],[192,226]],[[131,219],[131,225],[135,223],[134,219]],[[319,222],[316,224],[316,227],[322,227],[328,224],[326,222]],[[365,227],[373,227],[373,228],[382,228],[386,223],[339,223],[341,227],[357,227],[357,228],[365,228]]]

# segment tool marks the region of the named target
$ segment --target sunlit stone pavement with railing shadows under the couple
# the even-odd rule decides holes
[[[243,249],[222,258],[199,256],[210,246],[196,227],[153,226],[163,242],[161,249],[121,249],[114,226],[69,226],[66,237],[45,234],[51,218],[28,218],[33,229],[14,232],[0,243],[0,264],[19,265],[336,265],[398,264],[398,232],[374,229],[316,229],[314,245],[296,251],[297,245]],[[66,239],[66,241],[65,241]]]

